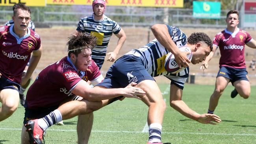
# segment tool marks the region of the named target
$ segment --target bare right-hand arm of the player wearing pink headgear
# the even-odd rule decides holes
[[[107,55],[109,55],[108,61],[115,61],[117,59],[117,54],[121,50],[122,46],[124,45],[124,41],[126,40],[126,34],[124,33],[124,30],[121,28],[119,33],[115,34],[119,40],[117,42],[117,46],[115,47],[115,50],[113,52],[109,52]]]

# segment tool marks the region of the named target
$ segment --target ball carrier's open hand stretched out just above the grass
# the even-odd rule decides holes
[[[220,123],[221,122],[221,119],[216,114],[205,113],[205,114],[201,114],[197,121],[202,123],[202,124],[213,124],[213,125],[216,125],[216,123]]]

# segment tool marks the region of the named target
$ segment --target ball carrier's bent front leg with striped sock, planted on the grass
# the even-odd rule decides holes
[[[163,114],[166,109],[166,103],[163,100],[161,91],[153,80],[141,81],[135,87],[139,87],[146,92],[142,101],[148,105],[148,142],[161,142]]]

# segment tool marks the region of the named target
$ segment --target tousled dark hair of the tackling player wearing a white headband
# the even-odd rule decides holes
[[[69,50],[69,57],[70,54],[78,56],[78,54],[82,52],[82,49],[93,49],[96,46],[96,37],[87,35],[86,33],[78,33],[78,35],[68,37],[67,46]]]

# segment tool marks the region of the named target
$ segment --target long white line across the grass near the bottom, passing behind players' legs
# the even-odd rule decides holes
[[[0,130],[12,130],[12,131],[21,131],[21,129],[15,128],[0,128]],[[65,129],[47,129],[47,131],[67,131],[72,132],[76,131],[75,129],[65,130]],[[95,133],[143,133],[140,131],[92,131]],[[186,132],[163,132],[162,134],[173,134],[173,135],[238,135],[238,136],[256,136],[256,134],[242,134],[242,133],[186,133]]]

